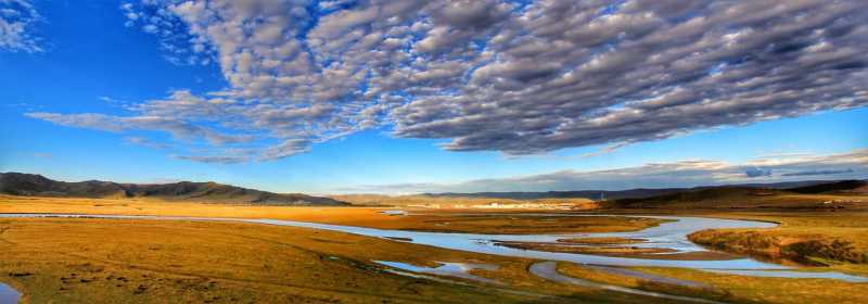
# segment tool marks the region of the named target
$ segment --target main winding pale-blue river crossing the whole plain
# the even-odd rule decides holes
[[[586,216],[586,215],[577,215]],[[601,215],[593,215],[601,216]],[[770,228],[776,224],[753,220],[702,218],[684,216],[635,216],[669,219],[660,226],[641,231],[614,232],[614,233],[559,233],[559,235],[477,235],[477,233],[443,233],[386,230],[366,227],[341,226],[330,224],[280,220],[280,219],[241,219],[241,218],[210,218],[210,217],[182,217],[182,216],[129,216],[129,215],[74,215],[74,214],[0,214],[0,217],[92,217],[92,218],[126,218],[126,219],[171,219],[171,220],[221,220],[243,221],[278,226],[304,227],[320,230],[340,231],[359,236],[376,237],[391,240],[431,245],[436,248],[460,250],[475,253],[494,254],[501,256],[526,257],[546,261],[572,262],[584,265],[621,266],[621,267],[681,267],[700,270],[728,270],[742,271],[746,276],[783,277],[783,278],[826,278],[859,281],[868,279],[848,276],[834,271],[796,271],[793,268],[771,263],[760,262],[752,258],[736,258],[726,261],[677,261],[600,256],[577,253],[545,252],[535,250],[512,249],[497,245],[500,241],[514,242],[558,242],[559,239],[585,237],[618,237],[627,239],[644,239],[647,242],[629,244],[631,246],[671,249],[677,253],[699,252],[705,249],[690,242],[688,235],[703,229],[719,228]],[[745,271],[751,270],[751,271]],[[755,273],[752,270],[778,270]]]

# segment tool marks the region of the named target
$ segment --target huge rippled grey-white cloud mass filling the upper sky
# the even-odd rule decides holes
[[[126,129],[158,115],[178,125],[135,128],[219,127],[278,160],[296,154],[288,141],[368,128],[523,155],[868,104],[866,1],[194,0],[120,12],[167,60],[215,64],[227,86],[176,90],[131,117],[41,118]]]

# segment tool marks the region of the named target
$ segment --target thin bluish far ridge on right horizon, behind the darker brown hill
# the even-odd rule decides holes
[[[729,186],[703,186],[694,188],[660,188],[660,189],[628,189],[628,190],[579,190],[579,191],[546,191],[546,192],[473,192],[473,193],[424,193],[422,197],[429,198],[488,198],[488,199],[510,199],[510,200],[540,200],[540,199],[589,199],[589,200],[622,200],[622,199],[643,199],[653,198],[659,195],[666,195],[679,193],[685,191],[694,191],[703,189],[715,188],[758,188],[758,189],[791,189],[791,188],[806,188],[834,183],[839,181],[829,180],[804,180],[804,181],[787,181],[775,183],[742,183]]]

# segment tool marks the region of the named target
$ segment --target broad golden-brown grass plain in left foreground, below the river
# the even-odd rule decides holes
[[[627,303],[635,297],[553,284],[528,259],[441,250],[332,231],[238,223],[2,219],[0,276],[27,303]],[[383,271],[370,261],[500,266],[460,286]],[[655,301],[650,300],[650,303]]]

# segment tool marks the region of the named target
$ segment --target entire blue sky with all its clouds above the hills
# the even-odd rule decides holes
[[[416,193],[868,178],[866,1],[0,0],[0,172]]]

